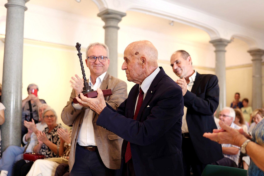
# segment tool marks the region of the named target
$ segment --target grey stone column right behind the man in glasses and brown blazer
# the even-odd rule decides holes
[[[110,66],[108,72],[110,75],[117,77],[117,32],[119,30],[118,23],[122,20],[123,16],[126,16],[126,13],[105,9],[97,14],[105,22],[105,36],[104,43],[109,48],[109,59]]]

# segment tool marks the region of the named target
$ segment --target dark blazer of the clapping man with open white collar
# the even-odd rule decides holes
[[[192,90],[183,97],[187,107],[186,121],[194,150],[202,163],[212,163],[223,158],[220,144],[204,138],[205,132],[217,129],[214,112],[219,104],[219,86],[216,75],[197,72]]]

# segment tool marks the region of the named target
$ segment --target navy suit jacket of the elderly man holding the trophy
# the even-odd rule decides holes
[[[139,85],[117,111],[107,105],[97,119],[97,125],[124,139],[121,151],[121,169],[127,141],[135,174],[183,175],[181,153],[181,126],[183,116],[182,90],[163,68],[151,83],[136,120],[133,120]]]

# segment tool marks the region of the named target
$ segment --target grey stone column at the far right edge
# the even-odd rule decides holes
[[[248,50],[252,56],[252,109],[262,108],[262,65],[264,50]]]

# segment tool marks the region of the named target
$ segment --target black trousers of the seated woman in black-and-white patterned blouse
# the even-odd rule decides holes
[[[26,163],[25,160],[19,160],[16,162],[14,167],[14,175],[13,176],[26,176],[33,165],[33,161]]]

